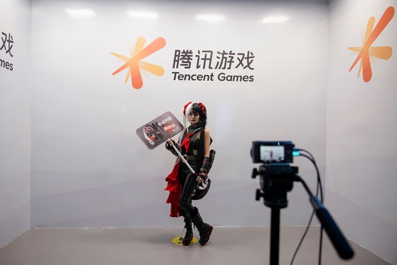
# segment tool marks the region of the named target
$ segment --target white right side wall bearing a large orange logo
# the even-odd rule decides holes
[[[349,72],[368,19],[375,25],[395,0],[330,2],[327,93],[327,203],[345,235],[397,263],[397,19],[372,46],[391,46],[389,60],[371,59],[372,78]]]

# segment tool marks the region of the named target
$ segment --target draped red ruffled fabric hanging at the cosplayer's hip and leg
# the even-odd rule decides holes
[[[170,175],[165,178],[165,181],[168,182],[168,185],[164,190],[170,192],[167,198],[167,203],[171,203],[171,217],[182,216],[181,206],[179,205],[179,197],[181,196],[182,189],[181,182],[179,181],[179,164],[180,162],[178,161]]]

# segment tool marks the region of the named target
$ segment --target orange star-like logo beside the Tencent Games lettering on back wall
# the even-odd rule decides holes
[[[130,78],[130,75],[131,75],[132,87],[135,89],[139,89],[143,85],[142,76],[140,74],[140,68],[142,68],[146,71],[149,71],[149,72],[151,72],[155,75],[158,75],[158,76],[161,76],[164,74],[163,67],[145,63],[145,62],[142,62],[141,60],[143,58],[148,57],[149,55],[157,52],[161,48],[163,48],[165,46],[165,39],[159,37],[159,38],[155,39],[152,43],[147,45],[146,48],[143,49],[145,42],[146,42],[146,40],[143,37],[139,37],[136,40],[135,49],[131,53],[131,57],[123,56],[123,55],[116,54],[116,53],[110,53],[111,55],[114,55],[126,62],[119,69],[117,69],[114,73],[112,73],[112,75],[115,75],[116,73],[129,67],[125,83],[127,83],[128,78]]]

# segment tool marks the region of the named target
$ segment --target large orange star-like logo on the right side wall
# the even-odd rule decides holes
[[[367,30],[365,32],[365,38],[363,41],[363,47],[349,47],[349,50],[355,51],[358,53],[356,60],[354,61],[353,65],[350,67],[349,71],[353,69],[353,67],[360,61],[360,66],[358,67],[358,77],[360,77],[361,68],[363,69],[363,79],[365,82],[371,80],[372,77],[372,69],[371,69],[371,62],[370,56],[380,58],[383,60],[388,60],[392,57],[393,50],[390,46],[378,46],[378,47],[371,47],[374,43],[376,38],[381,34],[381,32],[386,28],[389,24],[390,20],[392,20],[394,16],[394,8],[393,6],[389,6],[385,13],[383,13],[381,19],[379,20],[378,24],[375,24],[375,17],[371,16],[368,19]]]

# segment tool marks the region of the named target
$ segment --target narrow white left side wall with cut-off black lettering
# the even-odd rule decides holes
[[[30,228],[30,0],[1,1],[0,34],[1,247]]]

